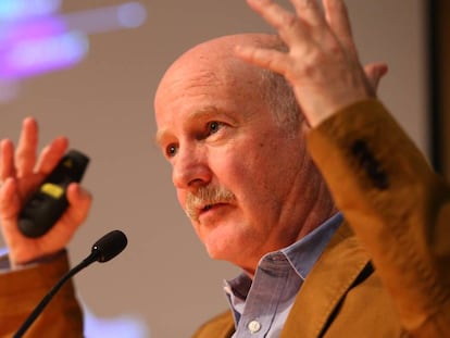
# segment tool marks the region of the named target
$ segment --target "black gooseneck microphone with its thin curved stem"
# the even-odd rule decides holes
[[[62,278],[53,286],[50,292],[47,293],[47,296],[42,298],[35,310],[33,310],[32,314],[22,324],[13,338],[21,338],[26,333],[29,326],[35,322],[38,315],[42,312],[53,296],[61,289],[65,281],[67,281],[76,273],[96,261],[104,263],[112,260],[125,249],[127,242],[128,240],[125,234],[121,230],[112,230],[96,241],[92,246],[91,253],[78,265],[74,266],[64,276],[62,276]]]

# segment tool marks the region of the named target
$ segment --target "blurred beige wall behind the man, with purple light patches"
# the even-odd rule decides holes
[[[226,309],[222,279],[238,270],[208,258],[176,203],[153,143],[153,93],[187,48],[271,28],[243,0],[0,3],[0,138],[16,140],[33,115],[41,146],[66,135],[91,158],[84,184],[95,202],[70,246],[74,264],[104,233],[128,236],[123,254],[75,278],[91,313],[87,337],[114,337],[108,327],[118,337],[189,337]],[[428,155],[426,1],[347,3],[362,60],[389,64],[379,97]],[[93,334],[92,323],[102,330]],[[124,323],[137,326],[124,333]]]

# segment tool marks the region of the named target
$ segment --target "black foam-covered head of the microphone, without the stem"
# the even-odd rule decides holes
[[[98,262],[104,263],[121,253],[127,243],[128,240],[124,233],[112,230],[96,241],[92,246],[92,254]]]

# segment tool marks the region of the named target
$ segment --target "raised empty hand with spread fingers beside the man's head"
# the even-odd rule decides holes
[[[288,52],[238,46],[236,53],[255,65],[284,75],[311,126],[339,109],[375,96],[383,63],[364,72],[342,0],[291,0],[291,13],[272,0],[247,0],[288,46]]]

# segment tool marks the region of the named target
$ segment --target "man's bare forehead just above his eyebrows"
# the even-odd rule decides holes
[[[247,110],[261,102],[255,100],[261,97],[259,82],[254,67],[233,59],[189,59],[175,64],[157,90],[158,127],[207,113]]]

